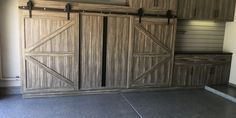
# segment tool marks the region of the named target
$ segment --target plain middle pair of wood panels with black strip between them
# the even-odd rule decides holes
[[[125,88],[130,17],[81,15],[81,89]]]

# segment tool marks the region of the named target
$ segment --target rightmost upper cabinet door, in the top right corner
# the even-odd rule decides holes
[[[217,20],[233,21],[236,0],[217,0],[219,4],[217,5],[215,14]]]

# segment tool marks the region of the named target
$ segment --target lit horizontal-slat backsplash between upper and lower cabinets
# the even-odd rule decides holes
[[[222,51],[225,23],[180,20],[176,51]]]

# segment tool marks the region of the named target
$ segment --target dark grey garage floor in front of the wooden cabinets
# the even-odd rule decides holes
[[[236,104],[205,90],[0,98],[0,118],[236,118]]]

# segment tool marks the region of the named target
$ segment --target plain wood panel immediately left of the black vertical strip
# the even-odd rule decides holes
[[[81,15],[81,89],[99,89],[102,80],[103,17]]]

